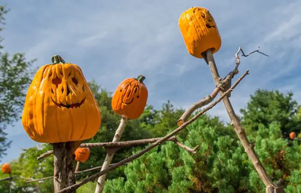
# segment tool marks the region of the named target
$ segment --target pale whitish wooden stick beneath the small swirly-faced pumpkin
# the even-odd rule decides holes
[[[117,142],[120,140],[122,133],[124,131],[124,128],[126,126],[126,122],[127,122],[127,118],[122,117],[120,120],[120,124],[115,132],[112,142]],[[103,171],[109,167],[110,163],[112,162],[113,156],[114,156],[114,152],[112,152],[111,154],[109,154],[109,153],[106,154],[100,171]],[[95,193],[102,192],[103,187],[104,187],[105,177],[106,177],[106,173],[104,175],[98,177],[96,188],[95,188]]]

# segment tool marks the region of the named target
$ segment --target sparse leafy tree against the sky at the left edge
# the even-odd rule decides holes
[[[0,24],[4,23],[4,15],[8,13],[5,6],[0,6]],[[0,27],[0,32],[3,30]],[[3,38],[0,37],[0,42]],[[8,124],[20,118],[26,96],[26,89],[31,82],[31,65],[24,54],[10,56],[0,45],[0,157],[10,145],[4,129]]]

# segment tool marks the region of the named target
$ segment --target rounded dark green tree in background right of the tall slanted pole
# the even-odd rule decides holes
[[[291,92],[283,94],[278,90],[256,90],[247,107],[240,111],[246,131],[253,132],[258,130],[260,124],[268,127],[277,121],[285,138],[291,131],[298,133],[301,130],[301,119],[296,116],[299,105],[292,95]]]

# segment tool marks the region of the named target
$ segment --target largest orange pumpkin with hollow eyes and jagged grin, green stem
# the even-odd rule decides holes
[[[22,125],[36,142],[92,138],[101,123],[99,106],[79,66],[60,56],[42,66],[26,95]]]

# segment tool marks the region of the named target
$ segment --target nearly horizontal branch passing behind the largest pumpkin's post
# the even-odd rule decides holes
[[[139,140],[131,140],[131,141],[119,141],[119,142],[104,142],[104,143],[82,143],[80,144],[80,147],[130,147],[134,145],[142,145],[147,143],[154,143],[158,140],[160,140],[161,137],[157,138],[149,138],[149,139],[139,139]],[[168,141],[174,141],[176,140],[176,137],[170,138]],[[193,152],[191,152],[193,153]],[[45,158],[49,155],[53,154],[53,150],[47,151],[46,153],[41,154],[37,160],[40,160],[42,158]]]

